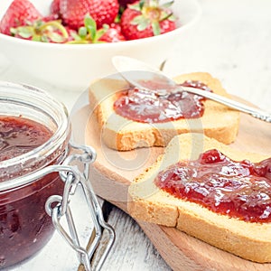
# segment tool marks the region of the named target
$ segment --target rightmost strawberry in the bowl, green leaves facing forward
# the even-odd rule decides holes
[[[143,39],[173,31],[175,18],[169,9],[173,2],[159,5],[159,0],[137,1],[128,5],[120,25],[126,40]]]

